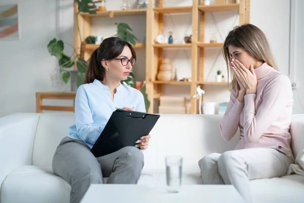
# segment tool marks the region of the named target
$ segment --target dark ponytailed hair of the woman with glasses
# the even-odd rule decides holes
[[[117,37],[104,39],[100,46],[91,54],[85,75],[85,84],[91,83],[95,79],[102,81],[105,76],[105,68],[102,66],[101,61],[118,57],[123,52],[125,46],[130,48],[132,57],[136,59],[135,50],[130,43]]]

